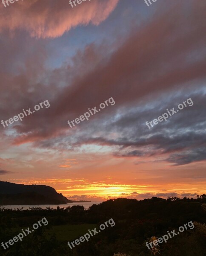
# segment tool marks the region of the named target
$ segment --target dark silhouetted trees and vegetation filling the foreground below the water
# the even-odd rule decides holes
[[[143,201],[118,198],[88,210],[83,206],[57,209],[0,208],[0,243],[9,241],[32,227],[41,218],[49,221],[47,226],[23,238],[23,241],[0,248],[5,256],[206,256],[206,195],[197,199],[152,198]],[[67,242],[99,227],[113,218],[114,227],[107,227],[101,233],[70,249]],[[161,237],[167,230],[178,229],[193,221],[195,228],[185,230],[149,250],[148,238]]]

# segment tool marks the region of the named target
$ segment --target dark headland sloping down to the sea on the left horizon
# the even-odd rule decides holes
[[[91,201],[73,201],[51,186],[23,185],[0,181],[0,205],[67,204]]]

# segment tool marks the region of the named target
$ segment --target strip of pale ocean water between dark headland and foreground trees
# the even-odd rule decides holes
[[[50,208],[54,208],[57,209],[57,206],[59,206],[60,208],[63,207],[72,207],[73,205],[83,205],[84,209],[89,209],[90,206],[92,206],[92,204],[100,204],[102,203],[102,201],[92,201],[89,203],[72,203],[72,204],[33,204],[33,205],[3,205],[2,207],[6,208],[6,209],[17,209],[17,208],[23,208],[23,209],[29,209],[32,207],[41,207],[42,209],[46,209],[46,207],[50,207]]]

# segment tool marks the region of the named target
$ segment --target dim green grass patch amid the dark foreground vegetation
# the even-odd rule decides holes
[[[97,227],[96,224],[79,224],[79,225],[59,225],[52,226],[52,229],[46,230],[46,234],[56,234],[56,237],[59,241],[74,241],[80,236],[83,236],[86,233],[89,233],[88,230],[92,230]]]

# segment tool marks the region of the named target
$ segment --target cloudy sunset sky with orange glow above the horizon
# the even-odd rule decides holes
[[[206,193],[205,13],[203,0],[0,3],[0,180],[73,200]]]

